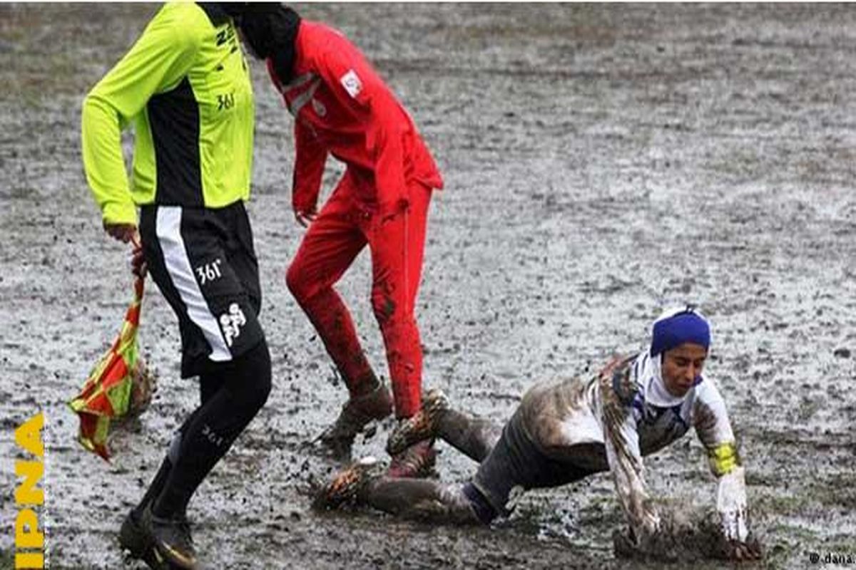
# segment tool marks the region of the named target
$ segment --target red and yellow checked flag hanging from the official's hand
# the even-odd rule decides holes
[[[110,461],[110,421],[129,412],[143,411],[152,400],[154,379],[137,350],[137,329],[143,300],[143,279],[134,281],[132,301],[122,332],[92,368],[80,394],[68,405],[80,416],[77,440],[83,447]]]

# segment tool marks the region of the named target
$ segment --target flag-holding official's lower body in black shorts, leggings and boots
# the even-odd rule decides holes
[[[270,391],[258,288],[245,285],[258,283],[257,269],[233,267],[228,246],[241,238],[232,221],[238,214],[246,216],[241,203],[217,210],[152,206],[140,220],[152,279],[179,319],[182,376],[202,376],[203,403],[176,434],[140,505],[142,526],[179,566],[195,561],[187,502]]]

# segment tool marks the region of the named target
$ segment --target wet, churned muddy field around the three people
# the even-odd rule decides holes
[[[145,4],[0,5],[0,549],[9,566],[14,428],[47,416],[53,568],[135,567],[116,531],[197,389],[178,379],[173,314],[151,285],[141,344],[161,387],[108,465],[65,407],[131,293],[80,161],[80,103],[152,15]],[[668,304],[714,325],[707,373],[746,461],[766,557],[856,555],[856,9],[836,5],[416,4],[302,7],[360,45],[437,156],[419,322],[425,385],[507,418],[538,379],[642,348]],[[191,504],[214,567],[635,568],[606,474],[532,492],[491,529],[316,514],[337,466],[305,443],[345,397],[284,285],[292,122],[264,69],[250,205],[273,357],[270,401]],[[332,162],[327,191],[341,169]],[[361,256],[340,290],[386,375]],[[383,456],[382,432],[356,447]],[[438,475],[471,461],[448,447]],[[715,482],[694,436],[646,461],[693,508]],[[659,567],[651,562],[647,567]],[[676,566],[676,567],[681,567]],[[710,562],[699,567],[717,567]]]

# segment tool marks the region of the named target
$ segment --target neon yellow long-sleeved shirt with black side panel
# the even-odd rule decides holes
[[[235,26],[210,4],[167,3],[83,103],[83,164],[104,221],[135,206],[247,200],[253,87]],[[134,124],[130,184],[120,133]]]

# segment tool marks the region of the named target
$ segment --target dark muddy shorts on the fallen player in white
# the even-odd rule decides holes
[[[558,487],[596,473],[558,461],[538,449],[523,426],[520,408],[502,428],[502,437],[479,465],[473,485],[496,514],[508,516],[508,497],[514,487],[524,490]]]

